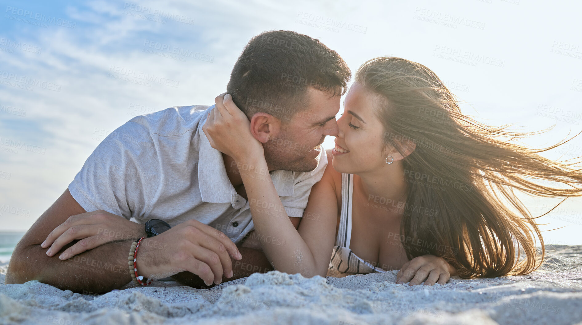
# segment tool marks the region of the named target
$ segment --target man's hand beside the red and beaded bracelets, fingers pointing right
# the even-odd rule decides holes
[[[239,249],[222,231],[188,220],[155,237],[141,241],[136,256],[137,274],[164,278],[179,272],[194,273],[206,285],[233,276],[232,261],[240,260]]]

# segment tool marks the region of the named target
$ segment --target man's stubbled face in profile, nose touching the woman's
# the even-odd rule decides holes
[[[311,172],[317,167],[325,136],[338,134],[335,115],[340,97],[330,98],[327,92],[308,87],[307,109],[300,108],[301,112],[283,123],[279,134],[264,144],[269,169]]]

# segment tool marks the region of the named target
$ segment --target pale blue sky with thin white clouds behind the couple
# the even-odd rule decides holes
[[[317,38],[352,72],[378,56],[422,63],[466,115],[547,129],[520,140],[530,147],[582,131],[576,1],[0,1],[0,10],[0,231],[26,231],[133,116],[214,104],[244,45],[267,30]],[[580,157],[582,138],[542,155]],[[559,201],[524,198],[536,216]],[[581,199],[537,220],[546,244],[582,244]]]

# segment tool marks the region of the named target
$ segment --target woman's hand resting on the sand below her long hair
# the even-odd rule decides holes
[[[396,283],[403,284],[410,281],[408,285],[416,285],[424,281],[424,285],[445,284],[450,276],[455,274],[455,268],[445,259],[434,255],[423,255],[404,263],[396,274]]]

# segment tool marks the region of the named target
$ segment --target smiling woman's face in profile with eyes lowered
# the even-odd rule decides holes
[[[338,172],[359,174],[386,165],[384,127],[375,114],[380,100],[379,95],[365,91],[359,83],[352,84],[347,92],[332,150],[333,168]]]

